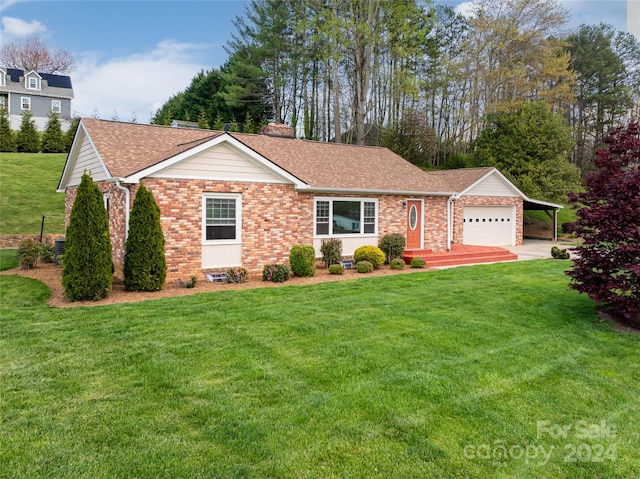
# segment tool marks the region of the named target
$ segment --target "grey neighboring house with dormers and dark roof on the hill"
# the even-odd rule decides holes
[[[62,129],[68,130],[72,99],[71,78],[66,75],[0,68],[0,109],[8,112],[13,130],[20,129],[22,113],[30,111],[36,128],[43,131],[52,110],[60,116]]]

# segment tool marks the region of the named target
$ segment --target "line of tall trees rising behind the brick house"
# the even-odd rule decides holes
[[[153,122],[275,120],[303,138],[404,143],[418,164],[465,166],[497,116],[544,102],[585,170],[607,131],[640,115],[638,42],[604,24],[567,31],[556,0],[479,0],[470,17],[425,0],[253,0],[234,24],[226,64]]]

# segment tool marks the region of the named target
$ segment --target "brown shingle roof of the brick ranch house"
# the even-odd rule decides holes
[[[133,175],[225,134],[316,189],[450,194],[491,170],[426,173],[382,147],[97,119],[82,123],[114,177]]]

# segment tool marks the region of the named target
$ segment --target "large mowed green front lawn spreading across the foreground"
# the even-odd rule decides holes
[[[2,276],[0,477],[639,477],[640,337],[568,265],[64,310]]]

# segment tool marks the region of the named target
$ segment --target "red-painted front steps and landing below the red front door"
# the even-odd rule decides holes
[[[440,266],[514,261],[518,259],[518,255],[496,246],[452,244],[451,251],[433,252],[428,249],[404,251],[402,259],[404,259],[407,264],[410,264],[413,258],[422,258],[427,263],[428,268],[437,268]]]

